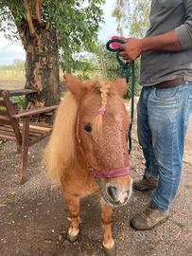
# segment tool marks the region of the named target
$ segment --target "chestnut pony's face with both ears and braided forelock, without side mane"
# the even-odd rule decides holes
[[[79,154],[96,174],[104,199],[113,206],[125,204],[132,183],[127,172],[130,118],[122,99],[126,82],[79,82],[68,74],[65,81],[79,105],[75,127]],[[126,173],[121,175],[122,170]]]

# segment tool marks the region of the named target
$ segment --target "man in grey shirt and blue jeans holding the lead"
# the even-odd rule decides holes
[[[192,1],[152,0],[144,39],[128,39],[120,55],[141,54],[143,85],[138,103],[138,137],[146,159],[142,180],[133,188],[153,189],[147,210],[135,215],[135,229],[164,222],[178,190],[184,136],[192,113]]]

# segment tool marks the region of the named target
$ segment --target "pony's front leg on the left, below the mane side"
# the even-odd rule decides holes
[[[66,198],[66,197],[65,197]],[[79,235],[79,197],[70,196],[66,198],[71,218],[67,238],[70,242],[75,242]]]

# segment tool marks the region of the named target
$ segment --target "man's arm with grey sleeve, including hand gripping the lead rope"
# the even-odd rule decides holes
[[[185,22],[182,26],[165,34],[143,38],[130,38],[120,47],[119,53],[128,62],[134,61],[142,52],[156,51],[181,51],[192,48],[192,1],[184,0]]]

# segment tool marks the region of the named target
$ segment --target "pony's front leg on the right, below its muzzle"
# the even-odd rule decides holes
[[[115,255],[115,247],[113,240],[113,208],[104,200],[101,201],[101,218],[104,226],[103,247],[106,255]]]

